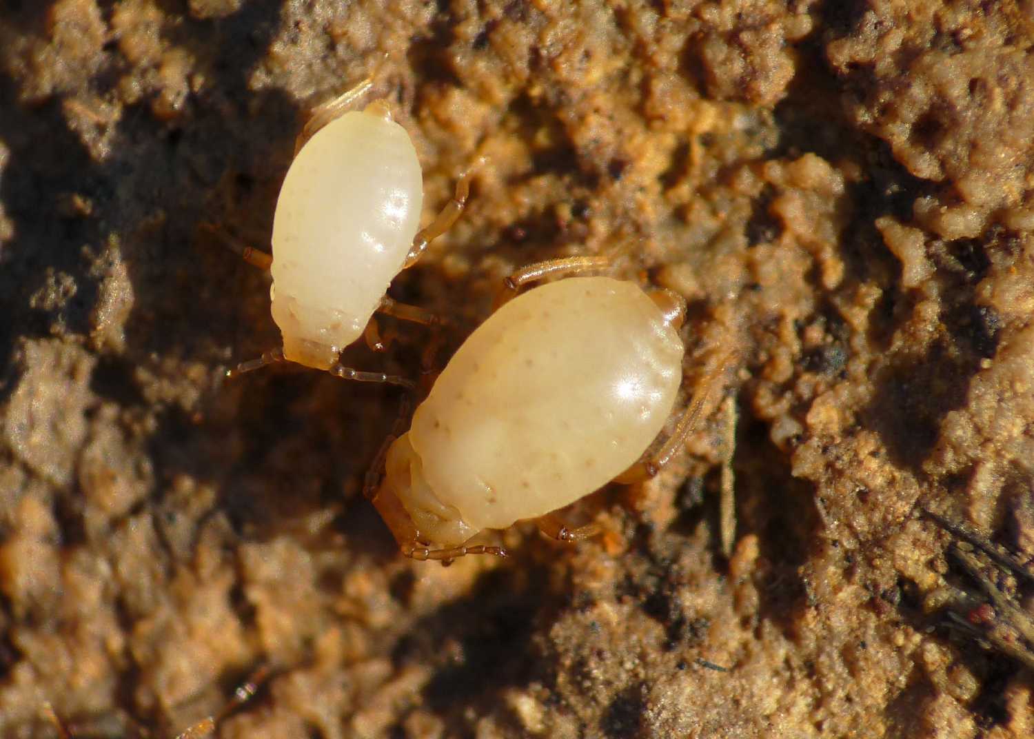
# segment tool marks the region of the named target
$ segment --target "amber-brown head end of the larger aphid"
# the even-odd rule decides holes
[[[456,509],[438,500],[428,486],[420,455],[409,443],[407,433],[395,439],[388,450],[385,479],[373,504],[399,544],[409,540],[456,547],[478,533]]]

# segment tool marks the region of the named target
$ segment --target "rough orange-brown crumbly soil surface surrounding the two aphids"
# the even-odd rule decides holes
[[[268,665],[222,736],[1030,736],[1030,674],[950,625],[1003,613],[919,512],[1034,556],[1032,18],[8,0],[0,735],[54,736],[43,701],[78,737],[172,735]],[[717,420],[586,501],[606,537],[517,527],[442,568],[361,495],[392,391],[222,382],[278,335],[268,277],[199,226],[267,243],[304,112],[368,74],[425,218],[490,158],[392,288],[453,346],[514,267],[610,253],[689,299],[688,381],[740,347],[731,559]],[[415,373],[400,331],[346,360]]]

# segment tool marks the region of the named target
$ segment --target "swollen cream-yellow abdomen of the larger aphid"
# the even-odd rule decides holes
[[[602,487],[664,427],[683,347],[635,284],[571,278],[511,301],[463,343],[409,441],[440,501],[506,528]]]

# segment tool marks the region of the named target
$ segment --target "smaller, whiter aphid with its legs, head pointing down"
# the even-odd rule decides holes
[[[239,365],[230,376],[287,361],[346,379],[412,384],[343,367],[338,355],[360,336],[371,348],[383,348],[374,312],[436,322],[385,292],[456,221],[468,182],[465,174],[460,177],[453,199],[418,232],[423,181],[409,134],[382,100],[344,112],[369,88],[365,81],[318,109],[299,135],[276,203],[272,256],[239,248],[245,260],[272,272],[273,320],[283,347]]]

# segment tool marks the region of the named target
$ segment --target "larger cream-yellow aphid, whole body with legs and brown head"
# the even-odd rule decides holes
[[[601,257],[542,263],[511,277],[600,269]],[[728,365],[698,386],[672,436],[640,460],[664,428],[682,379],[681,298],[610,277],[570,277],[531,289],[481,325],[438,376],[408,432],[390,439],[367,494],[402,552],[451,560],[496,554],[467,545],[482,529],[536,519],[576,541],[552,515],[610,482],[655,474],[701,415]],[[381,480],[381,464],[384,479]],[[379,484],[379,485],[378,485]]]

